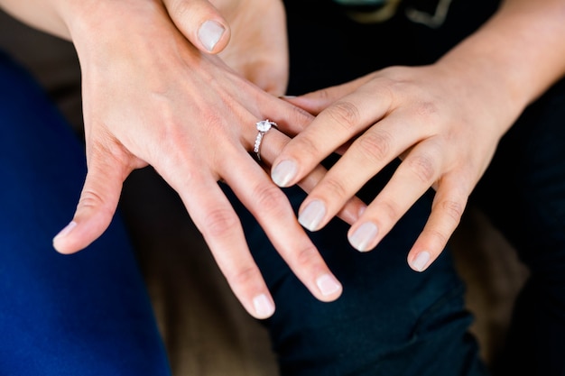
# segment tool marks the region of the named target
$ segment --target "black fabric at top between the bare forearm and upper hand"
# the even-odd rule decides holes
[[[496,10],[498,2],[453,0],[445,23],[432,29],[413,23],[405,9],[431,9],[421,1],[404,1],[385,23],[361,24],[331,0],[285,0],[288,12],[291,75],[288,92],[300,95],[337,85],[394,65],[421,65],[438,60]]]

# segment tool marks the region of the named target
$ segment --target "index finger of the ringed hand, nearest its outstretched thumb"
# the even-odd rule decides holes
[[[239,218],[217,181],[199,170],[191,176],[175,171],[165,173],[163,178],[179,192],[236,298],[255,318],[273,315],[273,298],[249,252]]]

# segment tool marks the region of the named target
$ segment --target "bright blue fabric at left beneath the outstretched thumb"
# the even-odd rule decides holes
[[[85,173],[79,138],[0,53],[0,374],[169,375],[119,216],[82,252],[52,248]]]

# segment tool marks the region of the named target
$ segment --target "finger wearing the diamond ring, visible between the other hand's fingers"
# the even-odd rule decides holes
[[[282,148],[284,148],[290,140],[291,139],[288,136],[278,132],[276,129],[265,134],[261,148],[262,160],[267,168],[265,170],[268,170],[268,167],[271,165],[270,162],[280,154]],[[319,184],[320,180],[326,176],[327,172],[328,170],[326,170],[323,166],[318,165],[304,179],[301,179],[301,181],[298,182],[298,186],[306,193],[309,193]],[[357,222],[359,216],[365,211],[365,209],[366,204],[358,197],[353,196],[347,198],[343,205],[336,209],[336,216],[341,218],[347,224],[353,225]]]

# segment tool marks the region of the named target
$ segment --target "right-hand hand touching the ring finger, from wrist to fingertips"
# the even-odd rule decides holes
[[[408,255],[412,269],[425,270],[444,249],[497,142],[519,113],[497,92],[495,80],[463,67],[394,67],[289,99],[318,116],[274,161],[279,186],[302,179],[332,151],[346,150],[302,203],[301,224],[310,231],[326,225],[368,179],[400,157],[393,178],[348,238],[361,252],[373,249],[434,188],[431,215]]]

